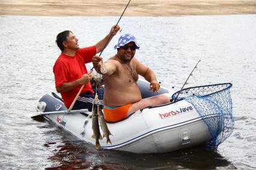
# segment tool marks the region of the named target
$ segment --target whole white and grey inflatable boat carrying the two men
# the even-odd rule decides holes
[[[210,142],[216,145],[219,135],[223,136],[228,128],[229,132],[225,135],[227,138],[233,130],[231,105],[223,105],[223,101],[218,104],[219,99],[216,99],[216,96],[223,96],[223,93],[230,95],[230,83],[190,87],[179,92],[161,86],[159,93],[148,90],[147,81],[139,79],[138,86],[142,98],[166,93],[175,102],[147,107],[121,122],[107,123],[112,133],[109,136],[112,144],[103,138],[100,140],[102,148],[133,153],[165,153]],[[225,102],[231,102],[230,99],[225,99]],[[71,113],[66,110],[56,93],[44,95],[37,106],[40,113],[53,113],[43,115],[44,118],[88,144],[95,145],[91,111]],[[228,115],[226,112],[231,117],[229,122],[224,121]]]

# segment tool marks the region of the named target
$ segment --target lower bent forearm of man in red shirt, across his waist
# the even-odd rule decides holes
[[[92,78],[91,73],[90,74],[84,74],[78,80],[75,80],[75,81],[72,81],[72,82],[66,82],[66,83],[61,84],[61,86],[56,87],[56,91],[58,93],[67,92],[69,90],[74,89],[75,87],[77,87],[79,85],[89,83],[91,78]]]

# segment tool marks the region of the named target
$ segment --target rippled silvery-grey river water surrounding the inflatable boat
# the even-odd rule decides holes
[[[97,151],[49,122],[36,122],[38,99],[55,92],[55,37],[69,29],[96,44],[119,17],[0,16],[0,169],[256,169],[256,15],[123,17],[136,57],[167,87],[233,83],[235,128],[217,153],[201,147],[162,154]],[[115,37],[103,52],[115,54]],[[127,129],[129,130],[129,129]],[[125,133],[125,132],[124,132]]]

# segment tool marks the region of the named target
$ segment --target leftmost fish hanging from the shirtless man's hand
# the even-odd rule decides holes
[[[92,128],[93,128],[93,135],[91,136],[92,138],[95,138],[95,145],[96,149],[100,150],[100,142],[99,139],[102,139],[102,135],[100,135],[100,127],[99,127],[99,119],[98,119],[98,114],[97,114],[97,106],[93,105],[93,113],[92,113]]]

